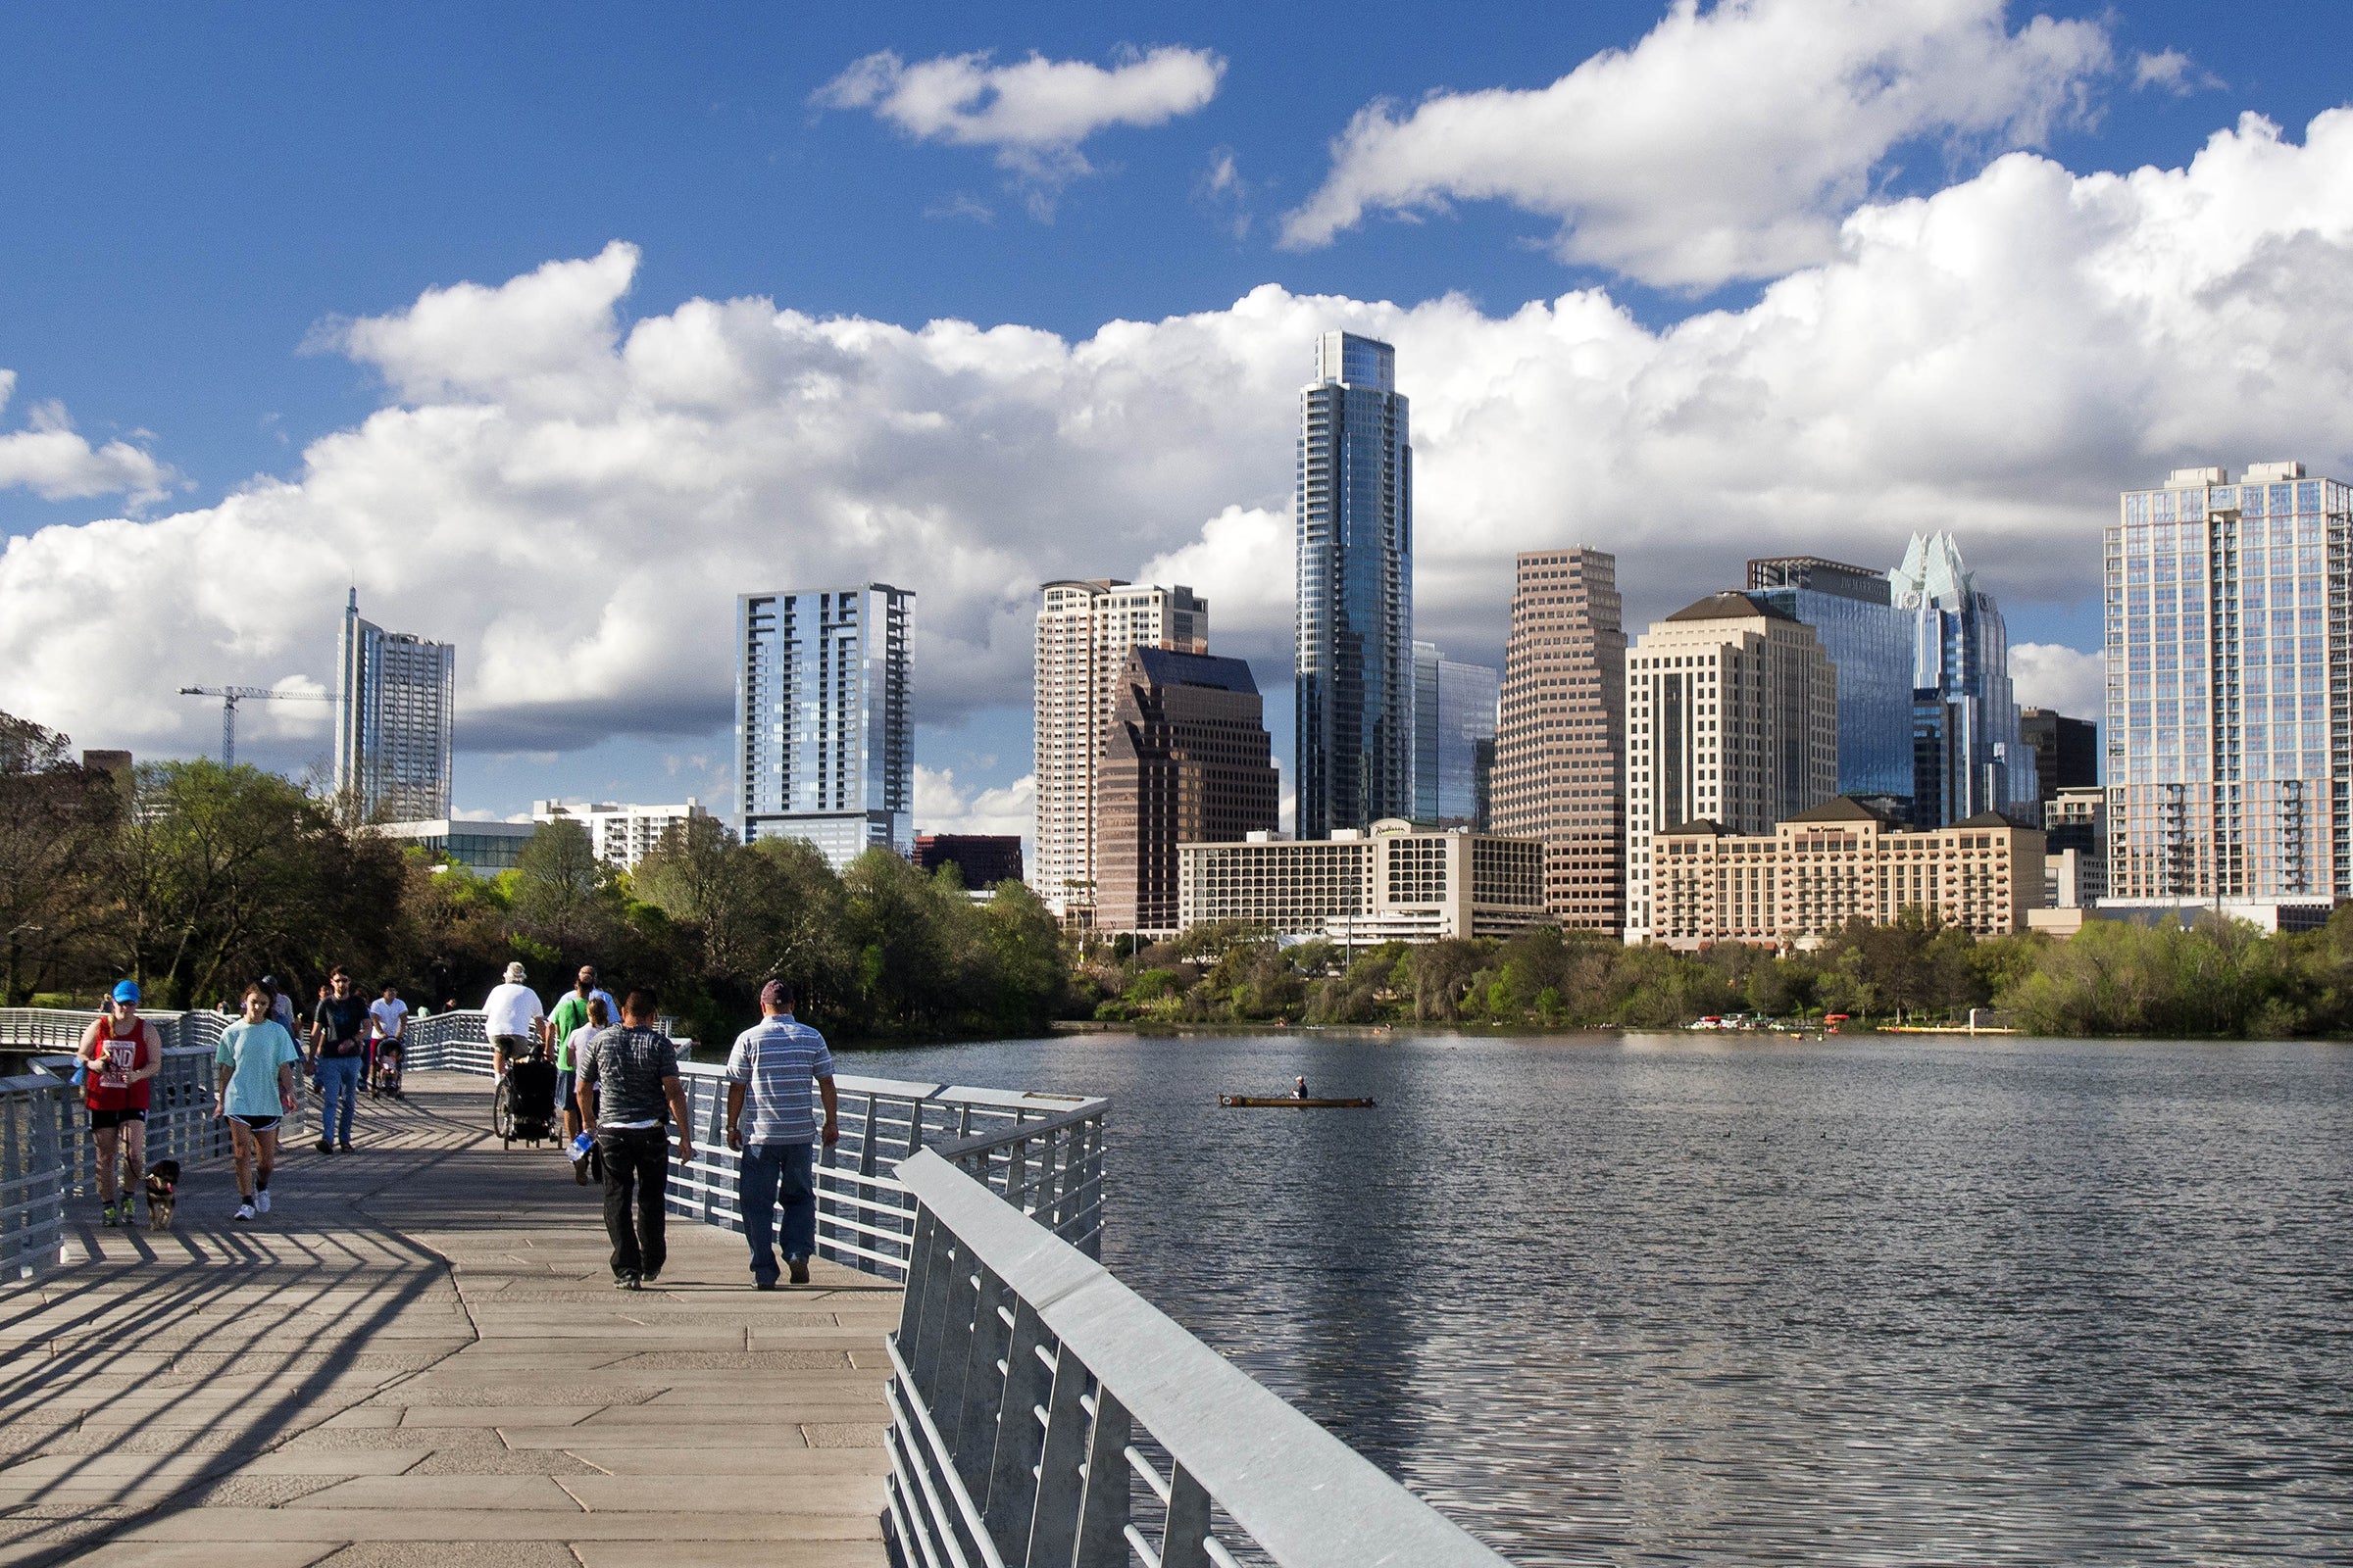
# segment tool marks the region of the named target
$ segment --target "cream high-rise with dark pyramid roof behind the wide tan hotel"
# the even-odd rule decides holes
[[[1626,654],[1626,940],[1659,933],[1657,835],[1769,835],[1833,795],[1838,670],[1814,628],[1746,592],[1654,621]]]

